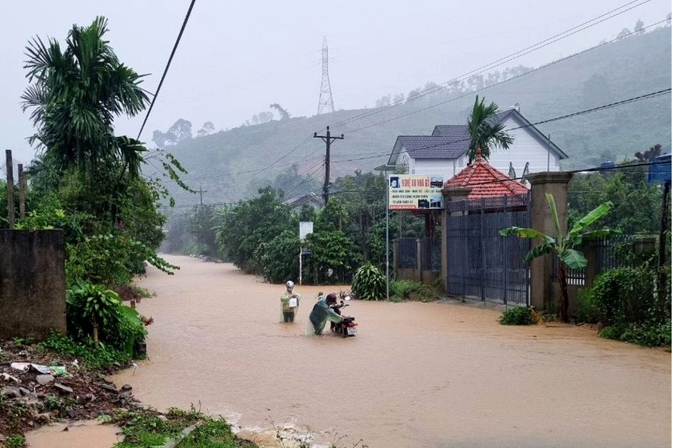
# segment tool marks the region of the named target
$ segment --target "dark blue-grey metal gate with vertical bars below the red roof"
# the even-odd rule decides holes
[[[446,203],[446,293],[479,301],[530,304],[530,240],[501,236],[530,227],[530,194]]]

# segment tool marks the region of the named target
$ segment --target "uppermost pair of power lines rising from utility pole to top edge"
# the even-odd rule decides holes
[[[504,63],[510,62],[510,61],[512,61],[512,60],[514,60],[514,59],[518,59],[518,58],[521,57],[521,56],[525,56],[526,54],[529,54],[529,53],[531,53],[531,52],[537,51],[537,50],[539,50],[539,49],[541,49],[541,48],[544,48],[544,47],[546,47],[546,46],[548,46],[548,45],[551,45],[552,43],[555,43],[555,42],[557,42],[557,41],[560,41],[561,39],[566,39],[566,37],[570,37],[570,36],[572,36],[573,34],[577,34],[578,32],[581,32],[581,31],[583,31],[583,30],[586,30],[587,28],[591,28],[592,26],[596,26],[596,25],[598,25],[599,23],[602,23],[602,22],[604,22],[604,21],[607,21],[607,20],[609,20],[609,19],[612,19],[613,17],[617,17],[617,16],[620,15],[620,14],[623,14],[623,13],[625,13],[625,12],[628,12],[629,10],[632,10],[632,9],[634,9],[634,8],[637,8],[637,7],[639,7],[639,6],[642,6],[642,5],[645,4],[645,3],[648,3],[648,2],[651,1],[651,0],[645,0],[645,1],[641,1],[641,3],[638,3],[639,1],[641,1],[641,0],[633,0],[633,1],[630,1],[630,2],[628,2],[628,3],[625,3],[624,5],[619,6],[619,8],[614,8],[613,10],[610,10],[610,11],[608,11],[608,12],[605,12],[604,14],[601,14],[601,15],[599,15],[599,16],[597,16],[597,17],[594,17],[593,19],[590,19],[590,20],[588,20],[588,21],[585,21],[585,22],[583,22],[583,23],[580,23],[579,25],[574,26],[574,27],[572,27],[572,28],[569,28],[569,29],[566,30],[566,31],[560,32],[560,33],[558,33],[558,34],[555,34],[555,35],[552,36],[552,37],[549,37],[549,38],[547,38],[547,39],[544,39],[543,41],[539,41],[538,43],[535,43],[535,44],[533,44],[533,45],[529,45],[528,47],[523,48],[523,49],[521,49],[521,50],[519,50],[519,51],[517,51],[517,52],[510,53],[510,54],[508,54],[508,55],[505,56],[505,57],[502,57],[502,58],[500,58],[500,59],[497,59],[496,61],[493,61],[493,62],[491,62],[491,63],[482,65],[482,66],[480,66],[480,67],[478,67],[478,68],[476,68],[476,69],[474,69],[474,70],[470,70],[469,72],[466,72],[466,73],[460,75],[460,76],[457,77],[457,78],[451,79],[451,81],[445,81],[444,83],[439,83],[439,85],[437,85],[437,86],[435,86],[435,87],[433,87],[433,88],[429,88],[429,89],[426,89],[426,90],[421,90],[417,95],[415,95],[415,96],[413,97],[413,99],[412,99],[411,101],[415,101],[416,99],[422,98],[423,96],[426,96],[426,95],[428,95],[428,94],[432,94],[432,93],[434,93],[434,92],[437,92],[437,91],[441,90],[441,89],[443,88],[442,85],[444,85],[444,84],[446,84],[447,87],[448,87],[449,85],[457,84],[459,81],[462,81],[462,80],[464,80],[464,79],[467,79],[468,77],[470,77],[470,76],[472,76],[472,75],[474,75],[474,74],[481,74],[481,73],[484,73],[484,72],[486,72],[486,70],[490,70],[490,69],[495,68],[495,67],[497,67],[497,66],[499,66],[499,65],[502,65],[502,64],[504,64]],[[633,3],[638,3],[638,4],[636,4],[636,5],[634,5],[634,6],[631,6]],[[627,6],[630,6],[630,8],[623,9],[623,8],[626,8]],[[621,11],[619,11],[619,10],[621,10]],[[619,12],[617,12],[617,11],[619,11]],[[615,14],[612,14],[613,12],[616,12],[616,13],[615,13]],[[610,15],[610,14],[612,14],[612,15]],[[610,17],[606,17],[606,16],[610,16]],[[601,20],[599,20],[599,19],[601,19]],[[595,22],[595,23],[593,23],[593,22]],[[483,69],[483,70],[482,70],[482,69]],[[481,70],[481,71],[480,71],[480,70]],[[391,104],[391,105],[383,106],[382,108],[377,108],[377,109],[375,109],[375,110],[371,110],[371,111],[367,111],[367,112],[362,112],[362,114],[358,114],[358,115],[352,116],[352,117],[350,117],[350,118],[348,118],[348,119],[344,119],[344,120],[342,120],[342,121],[339,121],[339,122],[337,122],[337,123],[334,123],[334,125],[343,125],[343,124],[346,124],[346,123],[352,123],[353,121],[357,121],[357,120],[362,119],[362,118],[364,118],[364,117],[366,117],[366,116],[370,116],[370,115],[373,115],[373,114],[378,114],[378,113],[380,113],[380,112],[384,112],[385,110],[389,110],[389,109],[395,108],[395,107],[400,106],[400,105],[402,105],[402,103],[395,103],[395,104]],[[404,115],[404,116],[406,116],[406,115]],[[385,123],[385,122],[384,122],[384,123]],[[347,132],[347,133],[349,133],[349,132]]]

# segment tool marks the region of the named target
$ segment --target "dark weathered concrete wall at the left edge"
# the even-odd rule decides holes
[[[0,339],[65,332],[62,230],[0,230]]]

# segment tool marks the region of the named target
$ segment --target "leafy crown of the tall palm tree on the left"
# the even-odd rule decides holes
[[[87,27],[73,26],[65,50],[56,39],[39,37],[26,47],[24,68],[31,83],[21,96],[23,111],[37,132],[30,143],[50,156],[62,172],[82,172],[121,164],[121,172],[136,176],[145,149],[140,142],[114,136],[117,116],[134,116],[145,109],[140,87],[144,75],[121,63],[108,41],[107,19],[96,17]]]

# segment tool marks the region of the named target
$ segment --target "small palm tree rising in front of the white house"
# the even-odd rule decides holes
[[[482,157],[490,157],[490,149],[502,147],[508,150],[514,139],[504,131],[503,123],[494,123],[493,116],[499,112],[496,103],[484,104],[484,98],[479,101],[479,95],[475,98],[472,113],[468,118],[467,125],[470,131],[470,147],[468,148],[468,164],[472,163],[477,156],[477,148],[481,148]]]

